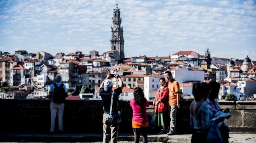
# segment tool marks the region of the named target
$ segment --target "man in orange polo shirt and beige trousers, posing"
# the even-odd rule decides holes
[[[169,111],[170,111],[170,131],[167,135],[174,135],[176,130],[176,114],[177,108],[180,108],[180,85],[177,81],[175,81],[172,77],[172,73],[170,71],[165,72],[165,78],[168,82],[166,82],[166,86],[169,89]]]

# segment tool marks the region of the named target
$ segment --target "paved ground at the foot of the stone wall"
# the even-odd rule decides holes
[[[191,134],[148,134],[148,143],[191,143]],[[102,133],[0,133],[0,143],[102,143]],[[133,143],[133,133],[119,133],[118,143]],[[230,134],[229,143],[256,143],[256,134]]]

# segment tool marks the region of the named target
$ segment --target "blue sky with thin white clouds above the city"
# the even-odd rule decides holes
[[[103,54],[116,4],[125,57],[209,47],[211,57],[256,60],[255,0],[0,0],[0,51]]]

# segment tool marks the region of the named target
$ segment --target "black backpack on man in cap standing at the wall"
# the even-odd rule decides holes
[[[54,103],[64,103],[66,98],[65,89],[62,88],[64,86],[63,83],[60,84],[60,87],[56,85],[56,83],[53,83],[55,88],[53,89],[53,102]]]

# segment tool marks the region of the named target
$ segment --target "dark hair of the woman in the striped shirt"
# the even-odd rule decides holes
[[[201,100],[201,98],[209,93],[211,86],[205,82],[196,82],[193,84],[192,94],[196,101]]]

